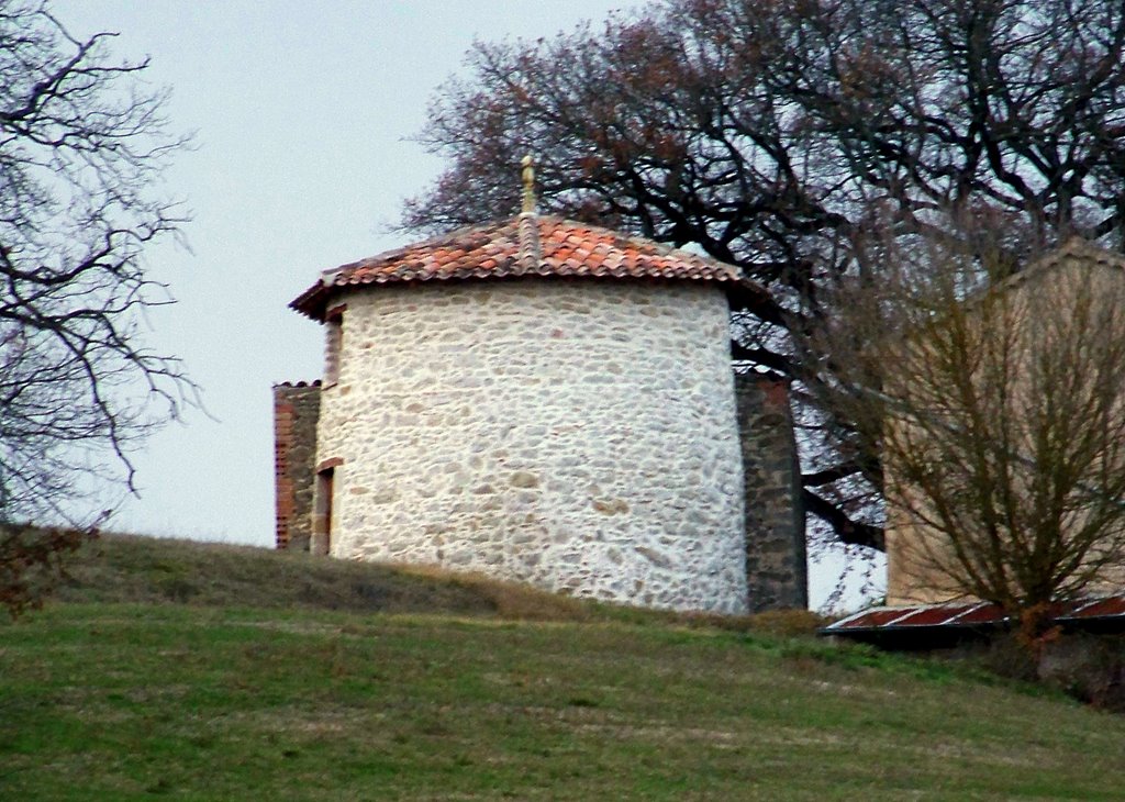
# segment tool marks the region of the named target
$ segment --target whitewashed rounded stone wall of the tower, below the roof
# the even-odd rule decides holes
[[[318,460],[331,553],[744,612],[742,476],[714,286],[357,289]]]

